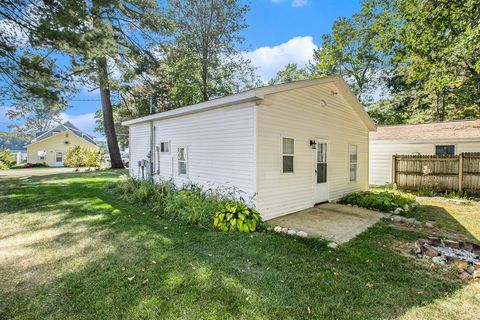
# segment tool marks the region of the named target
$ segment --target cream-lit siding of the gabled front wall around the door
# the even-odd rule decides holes
[[[336,92],[336,94],[332,94]],[[323,104],[322,100],[326,102]],[[265,96],[257,107],[257,207],[265,219],[314,204],[315,153],[310,140],[329,143],[329,200],[368,188],[368,129],[333,84]],[[295,139],[295,174],[281,173],[280,136]],[[357,181],[349,183],[349,145],[358,146]]]

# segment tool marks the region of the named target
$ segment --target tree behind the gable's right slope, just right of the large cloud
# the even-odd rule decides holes
[[[377,50],[377,14],[375,6],[365,3],[352,18],[336,20],[310,65],[316,76],[341,75],[364,104],[373,100],[386,73],[386,57]]]

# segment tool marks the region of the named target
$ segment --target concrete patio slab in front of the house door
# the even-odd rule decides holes
[[[309,237],[320,237],[345,243],[374,225],[384,215],[363,208],[325,203],[267,221],[272,226],[305,231]]]

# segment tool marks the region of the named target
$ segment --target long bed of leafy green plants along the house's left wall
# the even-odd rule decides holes
[[[179,190],[172,181],[155,183],[133,178],[122,179],[110,187],[130,203],[148,205],[159,214],[206,228],[213,225],[223,231],[249,232],[260,222],[258,212],[249,209],[242,199],[234,198],[234,192],[204,190],[196,184],[185,185]],[[225,215],[220,219],[222,212]]]

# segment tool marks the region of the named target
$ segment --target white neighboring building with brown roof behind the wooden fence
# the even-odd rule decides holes
[[[370,133],[370,184],[392,181],[393,155],[480,152],[480,120],[378,127]]]

